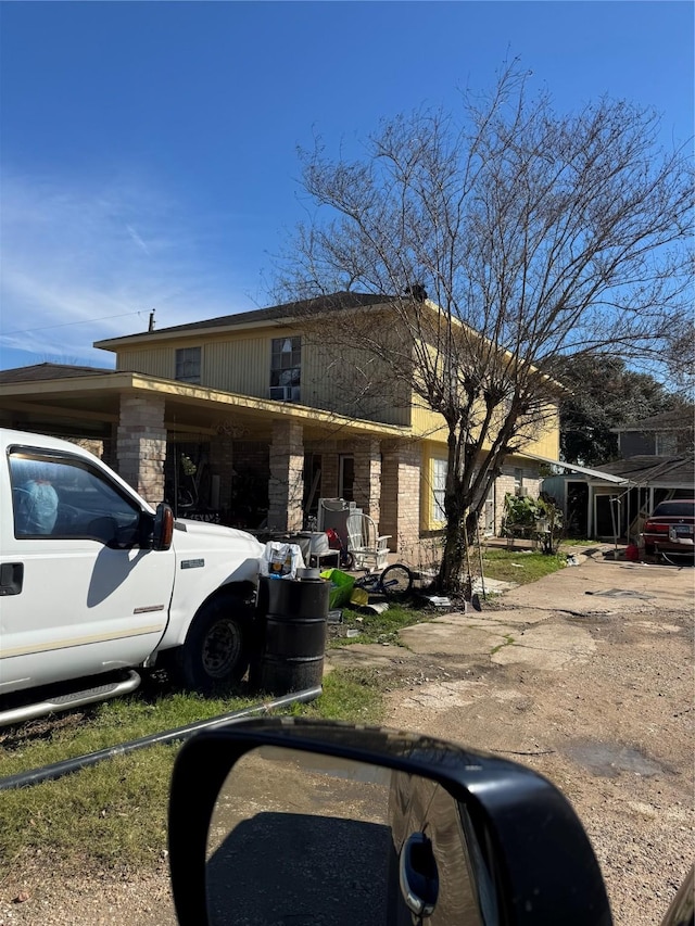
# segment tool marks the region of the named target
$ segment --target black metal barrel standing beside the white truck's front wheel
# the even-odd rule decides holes
[[[251,684],[271,695],[321,684],[330,583],[261,576],[262,642]]]

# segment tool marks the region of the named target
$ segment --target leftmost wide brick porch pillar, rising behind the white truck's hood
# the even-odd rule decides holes
[[[118,474],[150,505],[164,498],[164,398],[121,396],[116,456]]]

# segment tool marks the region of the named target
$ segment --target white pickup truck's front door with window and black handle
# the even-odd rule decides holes
[[[142,662],[175,571],[173,550],[148,548],[151,512],[96,460],[21,446],[8,460],[0,694]]]

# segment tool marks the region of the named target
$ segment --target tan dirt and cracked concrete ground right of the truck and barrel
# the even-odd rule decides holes
[[[538,770],[590,835],[619,926],[659,924],[693,863],[695,570],[605,559],[520,586],[482,611],[330,650],[374,673],[387,723]],[[58,875],[58,873],[56,873]],[[0,926],[174,926],[166,866],[127,883],[43,873]],[[558,921],[559,922],[559,921]]]

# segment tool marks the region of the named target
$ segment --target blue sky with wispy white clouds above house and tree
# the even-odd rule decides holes
[[[608,94],[693,135],[683,2],[0,3],[0,368],[269,304],[298,145],[458,105],[519,56],[558,111]]]

